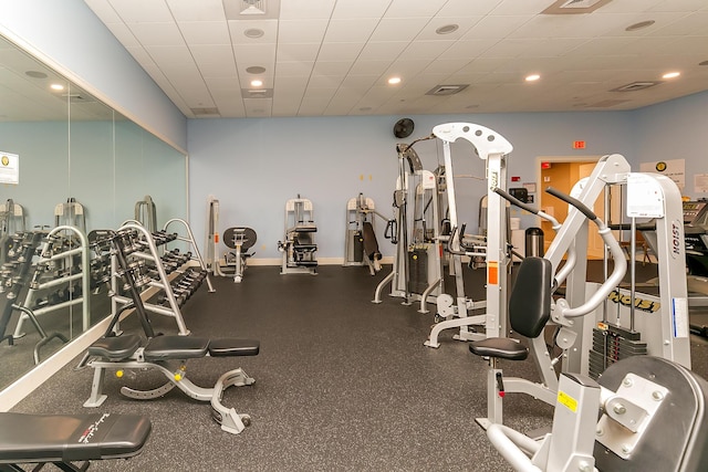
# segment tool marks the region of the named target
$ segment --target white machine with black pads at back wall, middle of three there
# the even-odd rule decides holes
[[[306,198],[288,200],[285,203],[285,239],[278,241],[278,250],[282,253],[281,274],[317,273],[315,252],[317,244],[314,234],[317,227],[314,223],[312,201]]]

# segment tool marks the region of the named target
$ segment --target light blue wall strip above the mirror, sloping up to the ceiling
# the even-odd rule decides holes
[[[0,34],[159,138],[187,148],[187,120],[82,0],[0,0]]]

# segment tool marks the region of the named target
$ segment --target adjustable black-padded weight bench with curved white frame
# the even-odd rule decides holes
[[[212,388],[204,388],[186,378],[187,359],[201,357],[256,356],[260,343],[253,339],[207,339],[192,336],[156,336],[145,346],[137,335],[103,337],[88,347],[86,365],[94,369],[91,397],[84,407],[98,407],[105,399],[103,381],[106,369],[116,369],[122,377],[124,369],[155,369],[168,381],[152,390],[137,390],[122,387],[121,394],[136,400],[149,400],[165,396],[178,387],[188,397],[199,401],[211,402],[211,416],[221,424],[221,429],[238,434],[250,424],[251,417],[239,415],[233,408],[221,403],[223,391],[231,387],[252,385],[256,379],[249,377],[243,369],[229,370],[221,375]]]

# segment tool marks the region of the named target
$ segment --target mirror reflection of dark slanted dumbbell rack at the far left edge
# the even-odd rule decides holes
[[[20,298],[23,289],[28,285],[34,255],[45,235],[44,232],[39,231],[13,234],[7,254],[8,259],[0,270],[0,293],[6,294],[7,298],[0,314],[0,340],[7,340],[9,345],[14,344],[15,336],[6,335],[6,331],[12,312],[20,311],[22,313],[21,319],[29,318],[40,335],[40,340],[34,346],[34,364],[40,363],[40,349],[46,343],[55,337],[63,343],[67,342],[66,337],[60,333],[46,334],[34,313],[22,306],[21,303],[15,303]]]

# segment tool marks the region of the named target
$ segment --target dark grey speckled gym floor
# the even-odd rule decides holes
[[[185,305],[194,335],[261,342],[254,357],[190,360],[187,376],[210,387],[242,367],[256,384],[231,388],[223,403],[249,413],[252,424],[235,436],[210,418],[208,403],[176,389],[152,401],[119,395],[122,385],[162,384],[153,373],[108,376],[100,411],[146,415],[153,433],[142,454],[96,461],[94,471],[507,471],[475,418],[486,416],[487,364],[467,345],[440,337],[424,347],[433,314],[386,297],[372,304],[389,268],[372,277],[363,268],[323,266],[312,275],[280,275],[279,268],[249,268],[243,282],[212,279]],[[476,273],[471,273],[476,272]],[[483,293],[483,271],[468,285]],[[175,333],[169,317],[153,316],[156,331]],[[134,319],[125,331],[139,332]],[[707,343],[691,337],[694,370],[708,374]],[[75,365],[75,363],[74,363]],[[13,411],[82,413],[92,371],[70,365]],[[534,377],[530,361],[504,363],[504,374]],[[552,409],[522,395],[504,400],[504,421],[529,431],[549,426]]]

